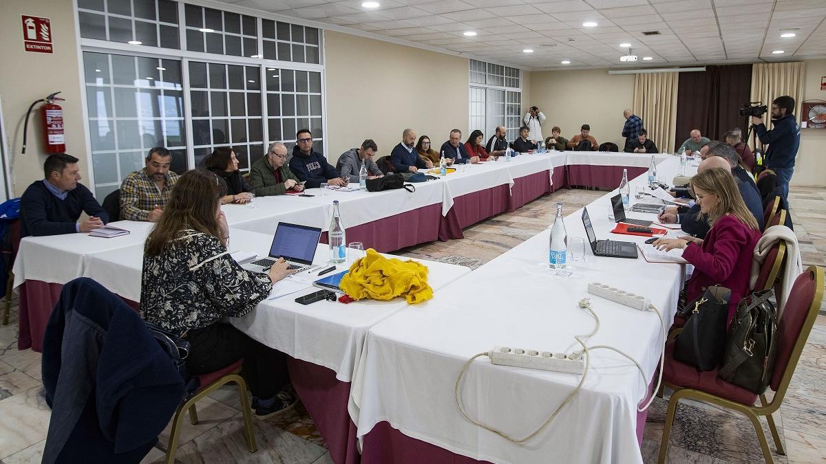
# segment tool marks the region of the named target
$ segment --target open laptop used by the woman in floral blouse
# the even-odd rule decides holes
[[[267,272],[278,258],[284,258],[284,261],[289,263],[289,269],[295,269],[296,272],[305,271],[316,258],[320,238],[321,229],[318,227],[279,222],[275,228],[273,244],[269,248],[269,257],[256,257],[242,268],[253,272]]]

